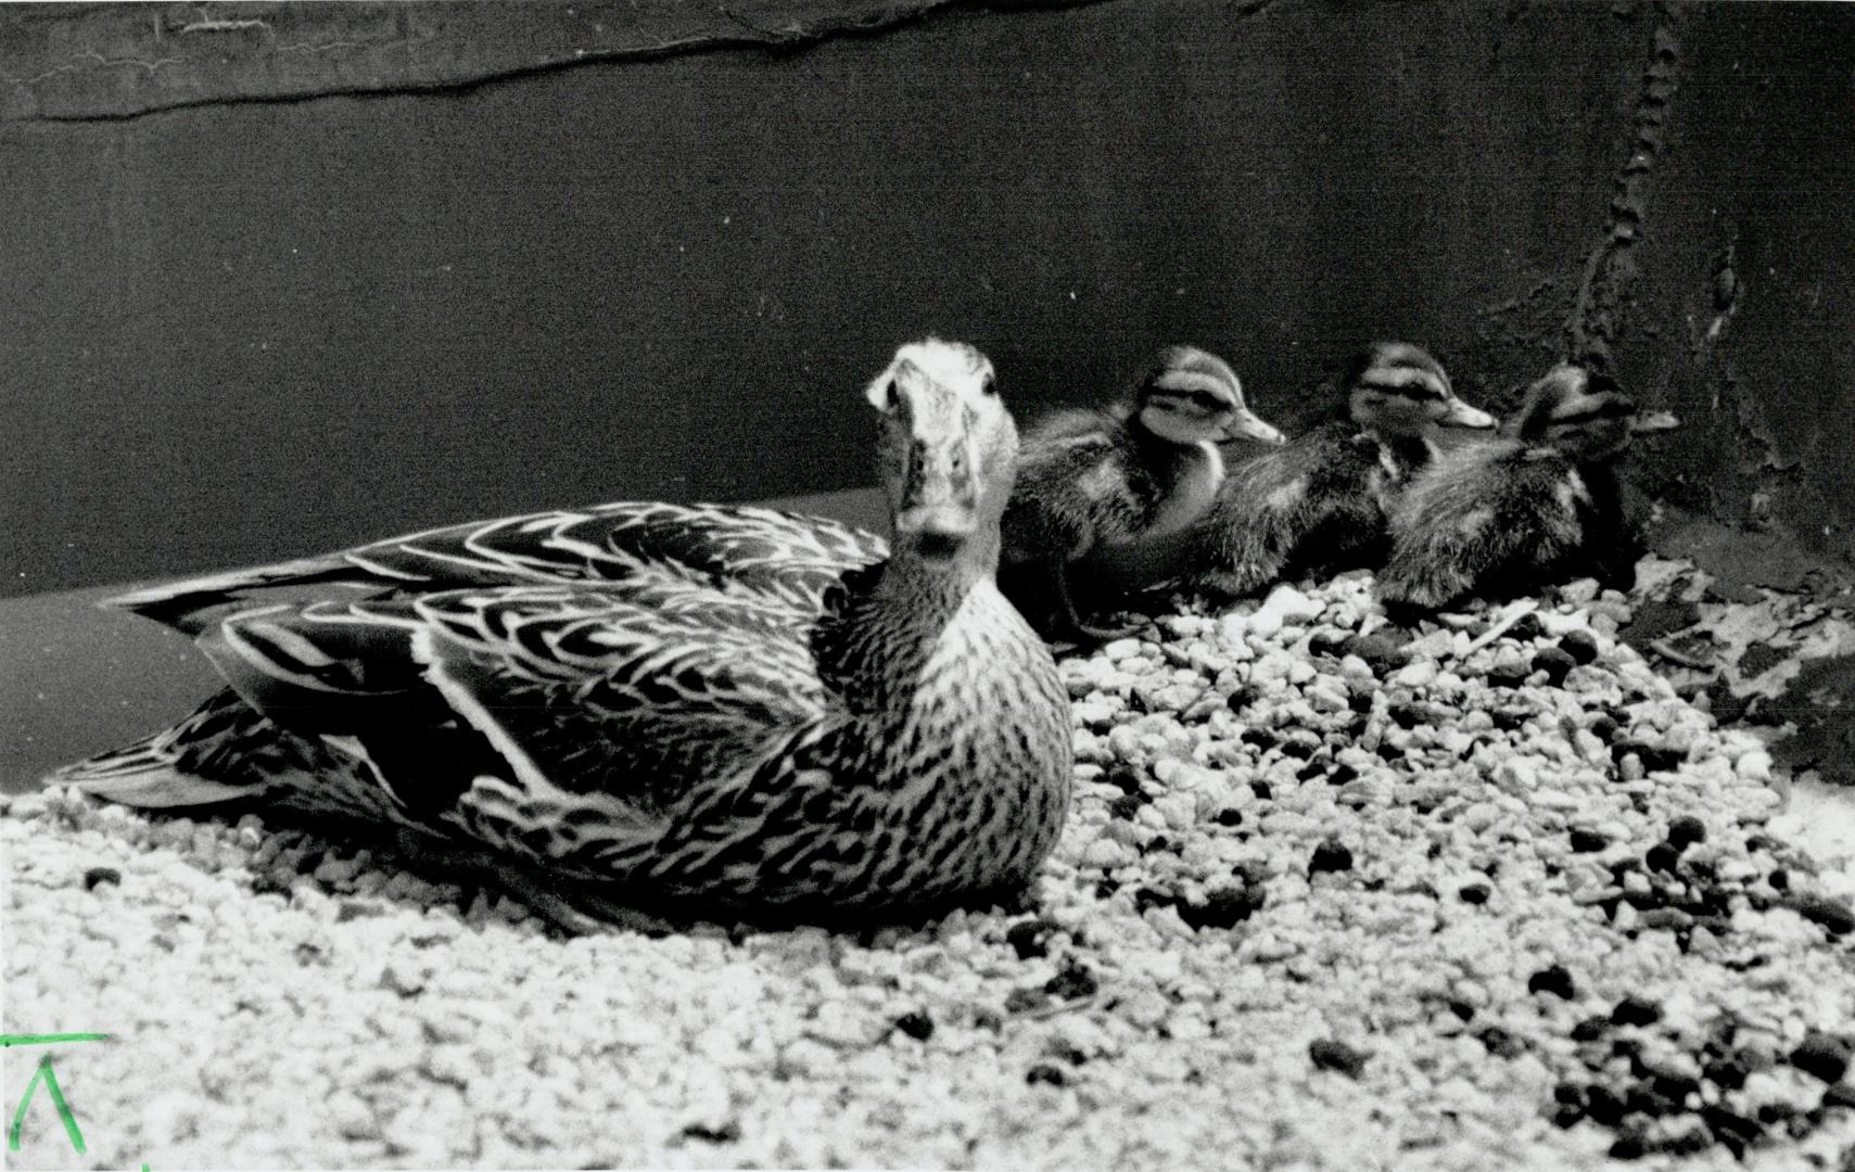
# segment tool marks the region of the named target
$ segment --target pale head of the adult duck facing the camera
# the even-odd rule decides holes
[[[991,360],[929,338],[896,350],[864,393],[881,412],[879,467],[898,553],[928,562],[996,556],[1018,428]]]

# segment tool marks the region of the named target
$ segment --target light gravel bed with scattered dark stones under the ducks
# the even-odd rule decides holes
[[[1849,873],[1623,595],[1369,577],[1067,656],[1031,911],[558,940],[384,847],[17,797],[13,1166],[1849,1168]],[[1504,629],[1503,629],[1504,627]],[[1783,823],[1775,823],[1783,827]]]

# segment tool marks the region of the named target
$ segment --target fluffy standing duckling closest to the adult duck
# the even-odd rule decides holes
[[[1005,593],[1046,632],[1126,634],[1083,621],[1070,569],[1096,547],[1163,538],[1196,521],[1224,478],[1217,441],[1235,438],[1282,443],[1245,404],[1230,363],[1187,345],[1148,358],[1128,402],[1043,419],[1026,434],[1005,508]]]

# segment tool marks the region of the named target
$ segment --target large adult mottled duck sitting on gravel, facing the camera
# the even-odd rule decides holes
[[[544,898],[571,886],[544,909],[569,922],[1022,888],[1072,753],[1050,651],[994,584],[1017,428],[965,345],[902,347],[866,395],[889,549],[818,517],[621,503],[132,593],[230,686],[54,781],[486,847]]]

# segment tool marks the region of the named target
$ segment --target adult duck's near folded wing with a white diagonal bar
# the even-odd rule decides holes
[[[308,768],[195,770],[198,784],[176,788],[176,762],[210,760],[206,738],[224,732],[195,721],[198,744],[174,740],[187,725],[163,734],[160,801],[135,801],[121,755],[63,781],[137,805],[262,792],[612,873],[683,810],[751,790],[755,766],[837,703],[809,623],[781,627],[751,601],[675,601],[662,610],[610,584],[488,586],[226,616],[202,649],[252,712],[308,745]]]

